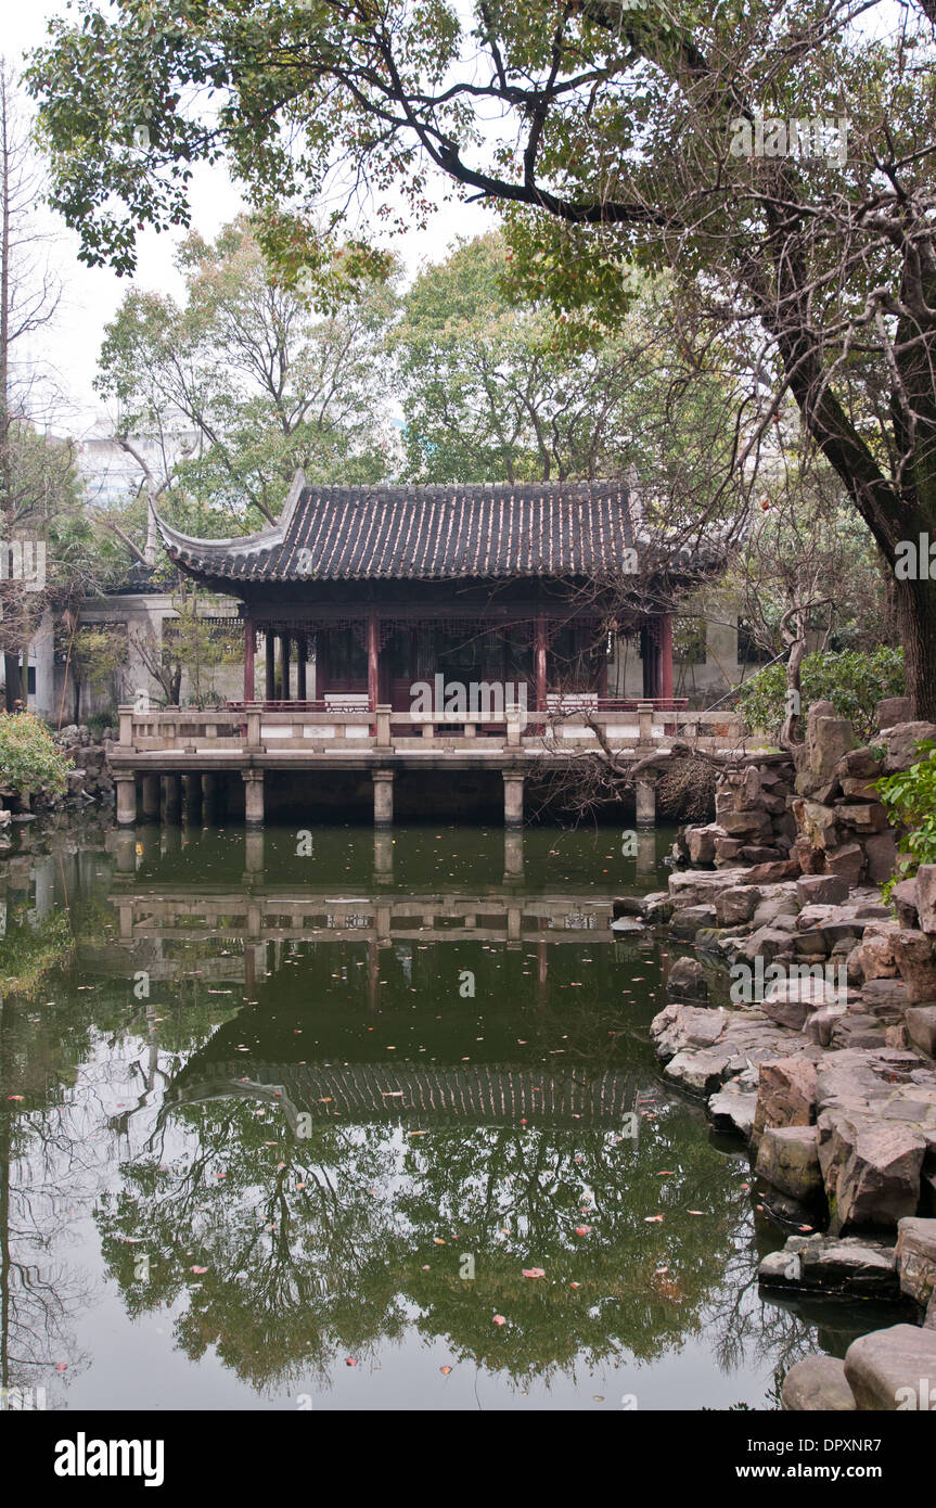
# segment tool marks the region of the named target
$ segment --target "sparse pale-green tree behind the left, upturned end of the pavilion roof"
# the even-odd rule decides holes
[[[146,543],[134,543],[140,508],[98,517],[146,566],[157,504],[188,532],[238,532],[276,519],[297,466],[318,481],[386,470],[390,285],[348,288],[339,249],[320,276],[288,288],[243,219],[214,243],[190,235],[178,261],[185,302],[131,290],[106,329],[96,383],[140,467]],[[155,460],[134,436],[158,442]]]

